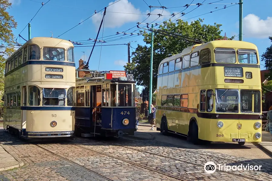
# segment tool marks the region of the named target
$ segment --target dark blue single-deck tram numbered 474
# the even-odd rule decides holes
[[[89,71],[86,76],[76,79],[76,135],[134,135],[136,82],[125,71]]]

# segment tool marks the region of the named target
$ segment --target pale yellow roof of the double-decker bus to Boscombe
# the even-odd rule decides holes
[[[196,52],[198,50],[210,48],[213,51],[213,48],[221,47],[221,48],[244,48],[244,49],[255,49],[257,50],[257,46],[253,43],[245,42],[245,41],[237,41],[237,40],[214,40],[207,43],[196,44],[193,46],[189,46],[182,50],[181,53],[173,55],[171,57],[167,57],[163,59],[160,63],[168,62],[173,59],[177,59],[182,57],[183,55],[189,54],[191,52]]]

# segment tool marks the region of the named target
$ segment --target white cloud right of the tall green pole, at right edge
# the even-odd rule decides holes
[[[243,18],[243,34],[245,37],[267,38],[272,35],[272,17],[260,19],[255,14]]]

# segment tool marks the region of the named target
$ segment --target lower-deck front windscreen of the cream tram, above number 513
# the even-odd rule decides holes
[[[65,89],[43,88],[43,95],[44,106],[65,106]]]

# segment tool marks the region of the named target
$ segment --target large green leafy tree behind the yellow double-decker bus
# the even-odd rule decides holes
[[[199,19],[189,24],[187,21],[177,20],[176,23],[171,20],[165,21],[157,29],[176,33],[182,36],[203,40],[209,42],[216,39],[223,39],[221,36],[222,30],[220,27],[222,24],[214,23],[214,25],[203,24],[204,19]],[[147,45],[138,45],[135,52],[132,52],[132,62],[125,65],[125,70],[130,71],[134,75],[134,79],[138,85],[149,87],[150,79],[150,40],[151,33],[143,32],[143,37]],[[228,38],[232,40],[232,38]],[[192,46],[194,43],[186,40],[178,39],[171,36],[154,33],[154,54],[153,54],[153,82],[152,92],[156,89],[157,84],[157,72],[160,62],[174,54],[182,52],[183,49],[188,46]]]

